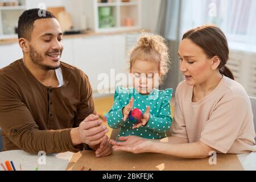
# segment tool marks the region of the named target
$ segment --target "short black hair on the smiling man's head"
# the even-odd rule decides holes
[[[55,18],[55,16],[51,12],[42,9],[30,9],[24,11],[22,15],[19,16],[18,38],[30,40],[35,20],[45,18]]]

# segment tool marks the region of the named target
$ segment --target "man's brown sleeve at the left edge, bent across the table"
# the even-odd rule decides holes
[[[11,142],[30,154],[38,154],[39,151],[45,151],[47,154],[80,151],[73,146],[71,129],[39,130],[30,110],[15,90],[14,84],[10,84],[1,75],[0,127]]]

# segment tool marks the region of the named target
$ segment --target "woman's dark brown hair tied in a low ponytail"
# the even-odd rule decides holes
[[[208,58],[218,56],[221,61],[218,67],[220,73],[234,80],[232,71],[226,67],[226,62],[229,59],[229,47],[226,36],[220,28],[212,25],[193,28],[183,35],[183,39],[192,40],[204,50]]]

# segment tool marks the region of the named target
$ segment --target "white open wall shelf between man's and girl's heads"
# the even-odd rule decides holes
[[[108,16],[102,15],[107,11],[110,12]],[[87,0],[85,15],[90,20],[89,28],[95,32],[135,30],[141,28],[141,0],[115,0],[106,3]],[[111,19],[114,19],[114,23]]]

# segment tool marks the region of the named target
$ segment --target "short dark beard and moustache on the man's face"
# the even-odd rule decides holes
[[[55,51],[55,52],[61,52],[62,53],[62,50],[61,51]],[[46,53],[46,55],[47,55],[47,53]],[[32,62],[34,64],[38,65],[40,68],[42,68],[46,71],[55,70],[55,69],[60,68],[60,65],[52,67],[51,65],[42,64],[41,62],[43,61],[43,56],[40,55],[40,53],[36,52],[35,49],[31,45],[30,45],[30,59],[32,60]]]

